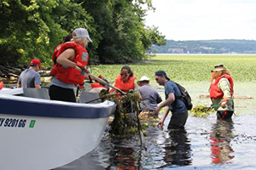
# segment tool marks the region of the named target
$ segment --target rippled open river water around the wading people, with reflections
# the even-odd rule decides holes
[[[254,84],[237,83],[235,94],[256,96],[251,90]],[[204,82],[190,82],[186,88],[194,105],[210,104],[208,99],[198,97],[207,92]],[[163,95],[163,88],[158,91]],[[184,130],[171,132],[166,129],[170,116],[163,129],[149,122],[143,147],[138,135],[115,139],[109,136],[108,127],[95,150],[55,170],[256,169],[256,102],[235,99],[235,105],[232,121],[217,120],[215,114],[206,118],[189,116]]]

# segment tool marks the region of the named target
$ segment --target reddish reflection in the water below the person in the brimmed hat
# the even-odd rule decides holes
[[[232,120],[217,120],[212,126],[210,134],[210,143],[212,151],[212,164],[230,163],[235,156],[231,156],[234,152],[230,142],[233,138],[233,122]]]

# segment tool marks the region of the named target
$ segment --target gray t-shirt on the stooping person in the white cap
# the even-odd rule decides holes
[[[142,96],[142,100],[140,102],[141,110],[154,111],[162,99],[157,91],[152,88],[150,85],[144,85],[139,88],[139,92]]]

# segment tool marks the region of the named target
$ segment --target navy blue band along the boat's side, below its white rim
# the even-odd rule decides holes
[[[103,118],[113,115],[116,105],[85,107],[0,99],[0,114],[63,118]]]

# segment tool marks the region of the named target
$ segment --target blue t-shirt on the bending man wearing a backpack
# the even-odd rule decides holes
[[[165,84],[165,94],[166,94],[166,99],[168,98],[168,94],[174,94],[175,97],[176,96],[182,96],[179,88],[177,88],[177,85],[172,82],[172,81],[168,81]],[[172,111],[172,113],[186,113],[188,110],[186,108],[186,105],[184,104],[183,100],[181,99],[176,99],[175,101],[172,102],[171,105],[169,105],[170,107],[170,111]]]

